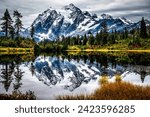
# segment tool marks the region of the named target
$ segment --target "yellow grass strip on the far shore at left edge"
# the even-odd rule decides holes
[[[0,47],[0,54],[28,54],[34,53],[34,48]]]

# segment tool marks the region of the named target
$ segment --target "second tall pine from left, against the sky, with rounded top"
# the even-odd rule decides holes
[[[19,37],[19,32],[20,32],[20,30],[21,30],[21,28],[23,26],[22,21],[21,21],[22,15],[21,15],[21,13],[19,13],[16,10],[16,11],[14,11],[13,16],[15,17],[15,25],[14,25],[14,27],[16,29],[16,36]]]

